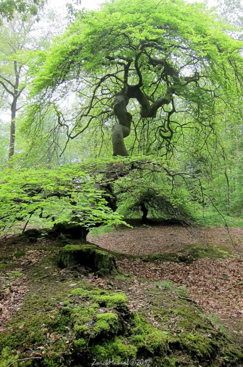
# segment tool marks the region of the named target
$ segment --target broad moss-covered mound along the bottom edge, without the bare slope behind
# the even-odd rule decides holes
[[[26,301],[0,336],[0,367],[14,361],[17,367],[90,367],[94,359],[118,366],[136,359],[133,365],[147,361],[152,367],[240,366],[243,361],[243,354],[185,300],[152,308],[154,319],[165,322],[171,313],[175,332],[175,325],[156,328],[130,312],[124,293],[84,282],[67,288],[63,285],[62,302],[53,290],[49,301],[43,294]],[[33,359],[17,361],[22,358]]]

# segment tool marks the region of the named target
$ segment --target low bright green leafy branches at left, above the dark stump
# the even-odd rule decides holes
[[[0,229],[37,218],[46,226],[72,221],[90,228],[99,223],[124,223],[107,206],[104,191],[80,165],[56,169],[8,169],[0,173]],[[35,222],[36,223],[36,222]],[[15,227],[14,227],[15,225]]]

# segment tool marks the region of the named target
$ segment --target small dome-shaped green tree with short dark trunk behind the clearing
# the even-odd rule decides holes
[[[125,218],[141,217],[143,204],[148,209],[148,219],[175,219],[186,224],[195,221],[196,212],[201,212],[201,205],[194,200],[183,179],[173,180],[163,169],[153,172],[147,166],[143,173],[134,172],[118,181],[116,189],[118,213]]]

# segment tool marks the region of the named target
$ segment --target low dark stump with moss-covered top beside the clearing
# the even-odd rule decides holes
[[[59,251],[58,266],[81,265],[98,275],[116,271],[115,257],[95,244],[67,244]]]

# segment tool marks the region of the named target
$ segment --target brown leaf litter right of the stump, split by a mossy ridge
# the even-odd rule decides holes
[[[135,255],[118,260],[119,269],[148,281],[171,281],[186,287],[188,297],[243,337],[243,228],[189,228],[138,222],[133,229],[124,227],[98,237],[89,235],[88,240],[107,250]],[[200,254],[192,264],[156,257],[154,261],[136,258],[148,254],[185,254],[195,248]],[[221,258],[217,258],[218,251],[216,258],[212,258],[214,254],[209,250],[213,248],[222,254]],[[169,282],[164,287],[169,288]],[[143,304],[141,293],[135,300],[132,292],[131,303],[135,309],[139,308]]]

